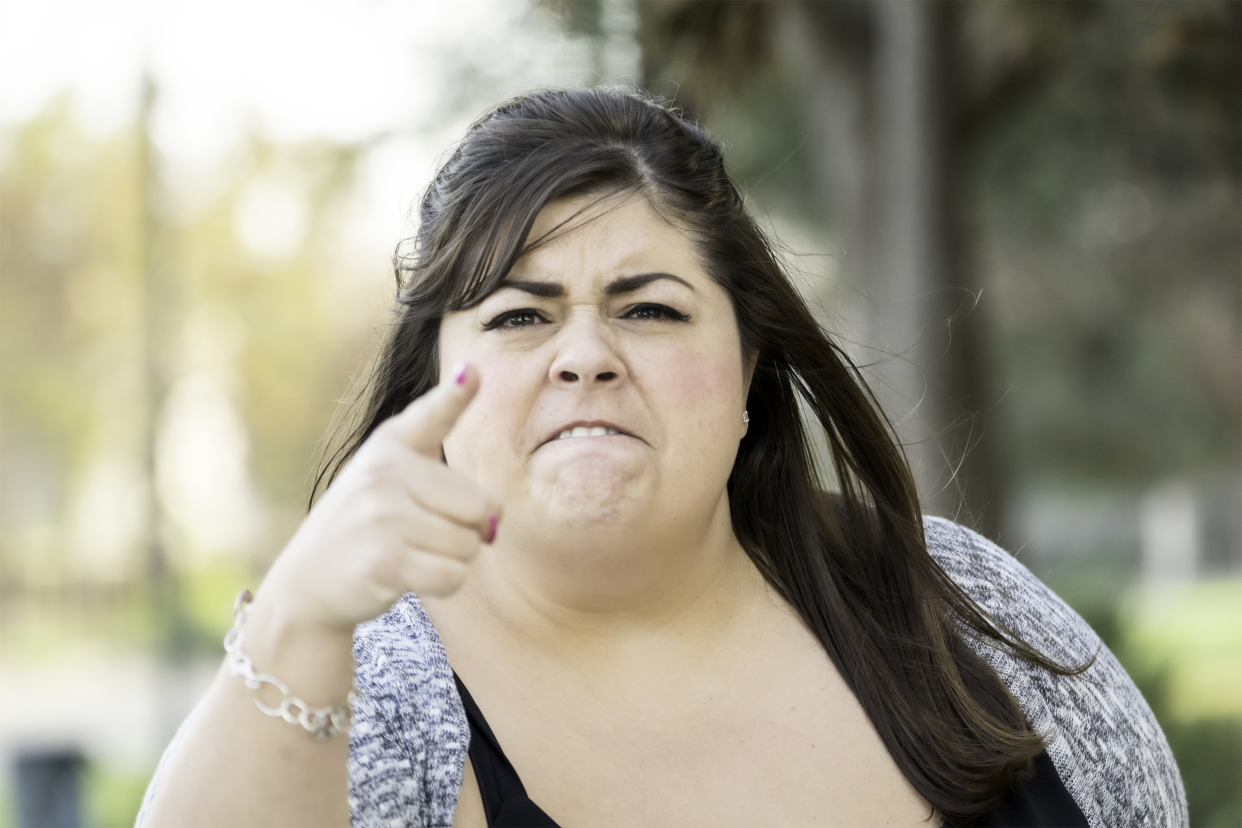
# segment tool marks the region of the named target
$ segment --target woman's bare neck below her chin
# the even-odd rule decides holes
[[[550,529],[507,515],[473,570],[461,596],[469,612],[492,617],[527,647],[563,654],[667,632],[718,636],[763,590],[724,497],[697,521],[658,526]]]

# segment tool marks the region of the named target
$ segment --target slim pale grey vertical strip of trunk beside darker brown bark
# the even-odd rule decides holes
[[[876,0],[876,171],[869,339],[882,351],[876,389],[897,425],[924,505],[953,510],[939,446],[944,194],[934,0]]]

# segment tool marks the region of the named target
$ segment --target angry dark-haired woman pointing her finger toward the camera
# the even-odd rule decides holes
[[[697,125],[517,98],[420,220],[360,425],[140,823],[1186,823],[1089,628],[922,518]],[[354,682],[348,746],[248,667],[294,714]]]

